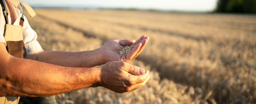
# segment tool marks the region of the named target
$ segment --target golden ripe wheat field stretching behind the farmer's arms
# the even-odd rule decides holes
[[[84,88],[42,103],[256,103],[256,16],[35,9],[27,19],[44,50],[86,51],[113,39],[150,40],[130,64],[145,86],[117,94]]]

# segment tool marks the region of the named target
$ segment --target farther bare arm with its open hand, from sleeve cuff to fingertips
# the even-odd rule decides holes
[[[143,35],[137,41],[111,40],[106,42],[102,47],[91,51],[42,51],[40,53],[28,55],[27,58],[59,66],[83,68],[99,66],[109,61],[130,62],[141,53],[148,40],[149,37]],[[127,45],[134,46],[133,50],[127,55],[120,56],[118,51]]]

